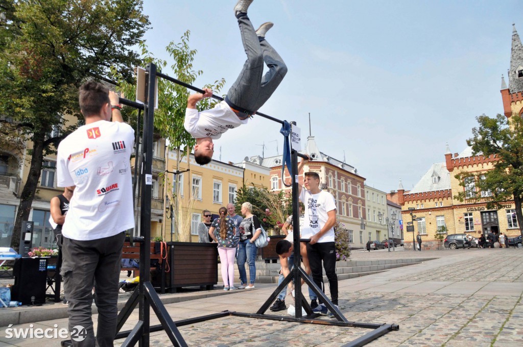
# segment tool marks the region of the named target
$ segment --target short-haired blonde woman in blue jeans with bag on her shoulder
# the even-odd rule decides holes
[[[254,288],[254,281],[256,280],[256,252],[258,248],[254,244],[254,240],[258,238],[261,233],[261,225],[257,216],[252,214],[253,205],[249,202],[242,204],[242,214],[245,216],[240,224],[240,244],[238,248],[238,270],[240,270],[240,281],[242,285],[240,289]],[[245,261],[249,265],[250,283],[247,285],[247,273],[245,272]]]

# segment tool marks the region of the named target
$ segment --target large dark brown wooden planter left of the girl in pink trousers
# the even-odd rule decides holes
[[[163,271],[152,274],[154,286],[160,286],[162,275],[165,290],[176,293],[181,287],[206,286],[211,290],[218,283],[218,249],[216,244],[167,242],[167,264]]]

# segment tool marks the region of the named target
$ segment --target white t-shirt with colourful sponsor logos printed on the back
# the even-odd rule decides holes
[[[58,146],[59,187],[76,186],[62,227],[65,237],[95,240],[134,227],[129,124],[83,125]]]

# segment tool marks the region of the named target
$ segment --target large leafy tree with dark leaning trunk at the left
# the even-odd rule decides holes
[[[101,79],[115,68],[132,78],[138,54],[130,49],[149,28],[142,0],[0,0],[0,115],[12,118],[33,143],[29,175],[20,195],[14,230],[27,220],[43,157],[81,117],[77,89],[87,78]],[[71,114],[77,124],[66,124]],[[60,129],[60,136],[49,136]],[[17,248],[19,233],[13,234]]]

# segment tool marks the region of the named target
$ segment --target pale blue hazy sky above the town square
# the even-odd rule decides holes
[[[203,71],[194,85],[225,78],[226,94],[245,62],[235,4],[144,0],[146,44],[170,62],[165,47],[190,30],[194,67]],[[401,178],[412,189],[445,161],[447,144],[463,151],[477,116],[503,113],[501,76],[508,83],[522,10],[517,0],[255,0],[248,16],[255,28],[274,22],[266,38],[288,67],[259,111],[296,121],[302,145],[310,113],[321,152],[345,159],[368,186],[389,192]],[[214,159],[281,155],[279,130],[255,117],[214,141]]]

